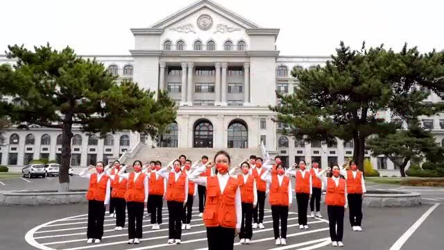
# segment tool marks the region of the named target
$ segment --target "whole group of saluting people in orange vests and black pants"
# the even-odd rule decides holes
[[[105,207],[109,204],[109,217],[116,218],[114,230],[126,226],[128,213],[128,244],[139,244],[143,236],[144,208],[147,216],[151,216],[151,229],[159,230],[166,200],[167,243],[180,244],[182,230],[191,229],[193,201],[198,195],[198,216],[206,227],[208,249],[233,249],[237,236],[240,244],[251,244],[253,229],[265,228],[264,207],[268,194],[275,244],[286,245],[293,190],[300,230],[309,229],[307,217],[323,218],[321,194],[325,190],[332,246],[343,247],[346,208],[350,208],[352,230],[362,231],[361,205],[366,186],[353,160],[325,169],[316,162],[307,169],[307,163],[300,160],[286,169],[279,156],[274,160],[250,156],[234,165],[227,152],[219,151],[212,160],[202,156],[194,163],[182,155],[164,167],[158,160],[146,165],[135,160],[128,166],[116,160],[107,166],[96,163],[95,172],[93,168],[90,165],[80,173],[89,178],[87,243],[101,242]]]

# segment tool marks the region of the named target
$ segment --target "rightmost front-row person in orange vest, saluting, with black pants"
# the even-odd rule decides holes
[[[325,172],[329,172],[330,177],[325,177]],[[348,206],[347,185],[345,179],[341,178],[340,172],[339,166],[333,165],[332,169],[327,167],[316,174],[326,186],[325,203],[327,204],[328,224],[333,247],[344,246],[342,242],[344,210]]]

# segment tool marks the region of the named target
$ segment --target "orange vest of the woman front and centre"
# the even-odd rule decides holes
[[[207,227],[236,227],[236,192],[239,187],[236,178],[228,179],[225,190],[221,193],[217,176],[207,177],[207,200],[203,210],[203,222]]]

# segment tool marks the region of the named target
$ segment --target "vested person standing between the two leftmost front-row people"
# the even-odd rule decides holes
[[[111,179],[111,201],[114,200],[114,208],[116,210],[116,227],[114,230],[122,230],[125,226],[126,219],[126,201],[125,201],[125,193],[126,193],[126,185],[128,180],[118,175],[120,171],[120,164],[118,160],[114,162],[114,165],[111,169],[109,167],[105,167],[105,173],[110,176]]]

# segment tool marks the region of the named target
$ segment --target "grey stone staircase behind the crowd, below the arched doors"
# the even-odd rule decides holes
[[[160,160],[162,166],[166,166],[171,160],[179,158],[180,155],[187,156],[193,163],[202,156],[208,156],[211,160],[219,150],[225,150],[230,154],[231,165],[237,165],[241,161],[250,158],[250,155],[261,156],[259,146],[248,149],[200,149],[200,148],[151,148],[146,144],[138,144],[133,152],[121,158],[121,163],[132,165],[135,160],[142,160],[142,163],[149,163],[151,160]]]

